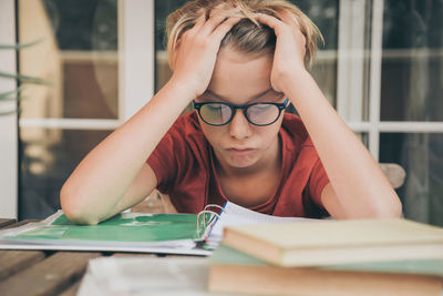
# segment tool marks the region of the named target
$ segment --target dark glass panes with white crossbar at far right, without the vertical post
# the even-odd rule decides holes
[[[406,217],[443,226],[443,2],[384,0],[380,161],[401,164]]]

